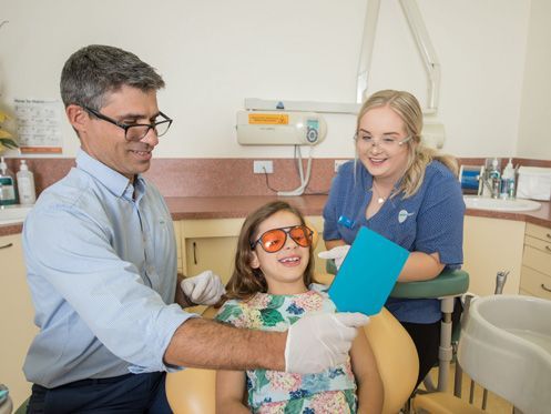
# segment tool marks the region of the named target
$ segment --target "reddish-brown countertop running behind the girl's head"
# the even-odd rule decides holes
[[[273,200],[285,200],[300,209],[305,215],[320,215],[327,195],[302,196],[171,196],[165,198],[173,220],[196,219],[231,219],[244,218],[256,208]],[[524,221],[545,228],[551,228],[551,206],[549,202],[541,202],[538,211],[501,212],[489,210],[467,209],[467,215]],[[20,233],[22,223],[0,225],[0,235]]]

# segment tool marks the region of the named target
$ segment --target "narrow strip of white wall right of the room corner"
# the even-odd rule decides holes
[[[532,0],[517,153],[551,160],[551,1]]]

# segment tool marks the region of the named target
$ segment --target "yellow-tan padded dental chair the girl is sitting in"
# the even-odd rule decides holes
[[[316,277],[319,283],[327,277]],[[208,307],[204,317],[216,311]],[[414,391],[419,371],[419,360],[414,342],[406,330],[386,309],[371,316],[364,327],[374,350],[382,378],[385,401],[382,413],[396,414]],[[213,370],[187,368],[166,374],[166,397],[175,414],[214,414],[215,375]]]

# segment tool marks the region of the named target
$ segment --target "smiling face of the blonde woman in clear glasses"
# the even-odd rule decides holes
[[[408,162],[408,137],[401,118],[389,107],[361,117],[356,139],[358,158],[378,179],[398,181]]]

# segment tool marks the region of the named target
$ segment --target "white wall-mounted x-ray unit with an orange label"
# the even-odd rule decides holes
[[[242,145],[316,145],[327,134],[314,112],[238,111],[236,129]]]

